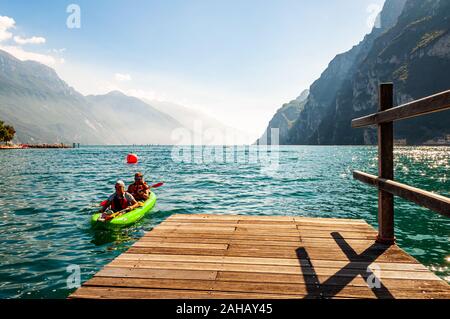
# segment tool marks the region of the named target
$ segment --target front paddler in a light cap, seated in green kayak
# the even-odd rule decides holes
[[[99,218],[99,221],[109,220],[108,215],[117,212],[129,212],[137,207],[140,207],[141,204],[136,201],[136,199],[128,192],[125,192],[125,183],[123,181],[117,181],[116,192],[112,194],[106,203],[103,205],[100,213],[102,216]]]

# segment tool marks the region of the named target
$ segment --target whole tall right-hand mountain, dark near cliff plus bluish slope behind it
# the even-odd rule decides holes
[[[387,0],[381,25],[338,55],[312,84],[285,144],[372,144],[351,119],[377,110],[378,85],[394,82],[396,105],[450,88],[450,1]],[[420,144],[450,133],[450,112],[400,121],[396,138]]]

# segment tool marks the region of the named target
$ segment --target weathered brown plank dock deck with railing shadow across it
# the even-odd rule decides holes
[[[174,215],[70,297],[450,298],[446,282],[376,235],[362,220]]]

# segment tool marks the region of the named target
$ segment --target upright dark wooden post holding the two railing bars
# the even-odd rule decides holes
[[[394,105],[394,85],[380,85],[379,111],[390,109]],[[378,176],[394,179],[394,124],[378,125]],[[378,236],[377,242],[387,245],[395,243],[394,236],[394,196],[378,190]]]

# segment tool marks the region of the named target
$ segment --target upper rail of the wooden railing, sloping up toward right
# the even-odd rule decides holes
[[[393,122],[448,109],[450,109],[450,90],[412,101],[386,111],[354,119],[352,121],[352,127],[358,128]]]

